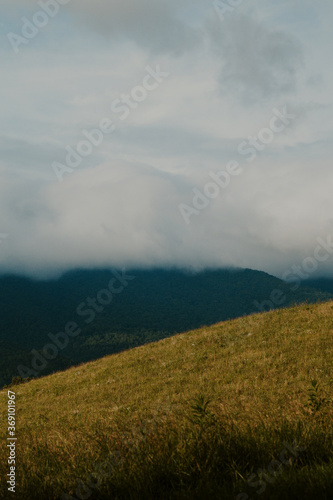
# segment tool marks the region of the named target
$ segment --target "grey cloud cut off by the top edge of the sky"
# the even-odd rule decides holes
[[[19,8],[33,13],[40,5],[32,0],[13,0],[9,8],[17,14]],[[87,36],[94,32],[109,40],[131,41],[152,53],[179,55],[194,50],[202,39],[201,30],[186,20],[187,0],[69,0],[60,11],[62,16],[71,15],[73,26],[79,26]]]

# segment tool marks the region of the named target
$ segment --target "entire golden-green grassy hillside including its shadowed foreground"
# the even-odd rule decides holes
[[[327,302],[15,386],[17,498],[332,499],[332,359]]]

